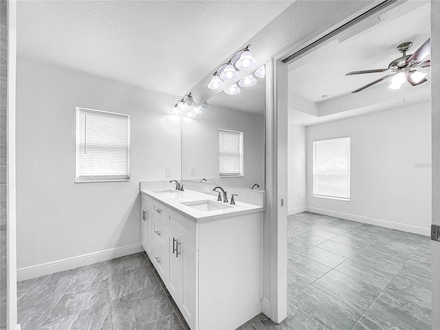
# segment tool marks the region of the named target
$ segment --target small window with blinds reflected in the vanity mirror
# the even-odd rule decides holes
[[[219,130],[221,177],[243,177],[243,132]]]

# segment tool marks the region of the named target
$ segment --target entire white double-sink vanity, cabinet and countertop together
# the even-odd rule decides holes
[[[190,329],[236,329],[261,313],[263,203],[157,186],[141,183],[142,246]]]

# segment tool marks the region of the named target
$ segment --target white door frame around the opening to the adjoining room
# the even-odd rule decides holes
[[[383,1],[364,8],[337,26],[322,32],[304,43],[289,45],[272,56],[272,206],[271,210],[271,313],[272,320],[280,323],[287,317],[287,64],[299,56],[313,52],[338,37],[341,32],[353,29],[372,15],[380,15],[405,1]],[[440,1],[430,0],[431,39],[431,89],[440,90]],[[297,58],[291,58],[298,54]],[[287,60],[287,61],[286,61]],[[286,64],[286,63],[287,64]],[[436,65],[437,63],[437,65]],[[432,223],[440,225],[440,94],[432,93]],[[435,172],[435,173],[434,173]],[[435,219],[435,220],[434,220]],[[432,325],[440,324],[440,242],[432,241]],[[434,330],[434,328],[432,328]]]

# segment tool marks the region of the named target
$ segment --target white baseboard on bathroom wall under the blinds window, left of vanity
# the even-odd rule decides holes
[[[29,267],[19,268],[17,270],[17,281],[25,281],[30,278],[63,272],[65,270],[73,270],[74,268],[91,265],[92,263],[100,263],[120,256],[128,256],[137,252],[144,251],[140,243],[122,246],[121,248],[111,248],[98,252],[74,256],[49,263],[41,263]]]

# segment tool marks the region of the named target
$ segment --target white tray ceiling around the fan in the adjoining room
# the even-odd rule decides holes
[[[337,39],[320,47],[314,52],[307,54],[298,61],[289,65],[289,94],[309,102],[311,107],[318,109],[316,116],[294,115],[292,118],[307,117],[307,124],[325,122],[334,120],[332,118],[343,118],[342,113],[338,113],[338,106],[335,107],[338,100],[339,104],[347,104],[347,100],[357,98],[358,102],[352,109],[362,108],[362,114],[368,113],[366,102],[368,99],[364,91],[357,94],[351,94],[351,91],[358,89],[374,80],[386,76],[385,73],[360,74],[355,76],[345,76],[347,72],[366,70],[366,69],[384,69],[388,67],[395,58],[401,56],[397,51],[397,45],[405,41],[412,41],[413,45],[408,52],[412,54],[430,37],[430,4],[428,1],[406,1],[396,8],[386,12],[386,19],[380,24],[375,25],[368,30],[364,30],[350,39],[339,42]],[[428,56],[426,59],[430,58]],[[430,72],[429,68],[419,69],[419,71]],[[430,76],[427,77],[430,79]],[[374,87],[380,91],[381,95],[388,94],[388,99],[384,98],[386,107],[375,104],[371,111],[377,109],[391,109],[401,104],[403,91],[396,96],[396,92],[388,89],[390,80],[378,83]],[[409,89],[429,89],[430,84],[425,83],[412,87],[409,83],[405,85],[406,91]],[[382,89],[384,89],[382,91]],[[322,95],[327,94],[329,98],[322,100]],[[426,100],[429,100],[429,93],[423,93]],[[410,94],[408,94],[410,96]],[[371,96],[370,96],[371,97]],[[373,96],[374,98],[374,96]],[[391,100],[393,102],[388,102]],[[423,102],[424,99],[417,100]],[[407,102],[411,100],[407,98]],[[328,107],[327,107],[328,106]],[[301,111],[296,104],[289,103],[290,109]],[[333,107],[333,111],[324,113],[324,109]],[[347,109],[351,110],[351,109]],[[329,113],[338,113],[338,115],[323,118]],[[361,111],[359,111],[361,113]],[[353,113],[347,112],[347,116],[353,116]],[[316,120],[313,119],[316,118]],[[319,119],[318,119],[319,118]]]

